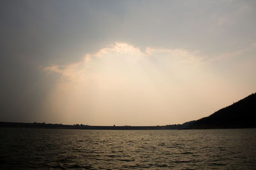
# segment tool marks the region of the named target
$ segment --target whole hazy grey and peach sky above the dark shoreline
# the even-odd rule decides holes
[[[256,92],[256,1],[0,2],[0,121],[169,125]]]

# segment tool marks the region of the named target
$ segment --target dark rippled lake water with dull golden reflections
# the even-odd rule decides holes
[[[0,169],[256,169],[256,129],[0,129]]]

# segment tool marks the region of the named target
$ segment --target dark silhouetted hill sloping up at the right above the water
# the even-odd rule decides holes
[[[216,111],[209,117],[182,124],[181,129],[228,129],[256,127],[256,93]]]

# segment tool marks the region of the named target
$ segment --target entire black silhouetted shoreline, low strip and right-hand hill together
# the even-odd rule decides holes
[[[175,130],[175,129],[236,129],[256,127],[256,93],[216,111],[209,117],[184,124],[157,126],[97,126],[63,125],[43,123],[0,122],[0,127],[41,128],[41,129],[99,129],[99,130]]]

